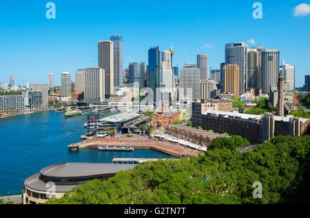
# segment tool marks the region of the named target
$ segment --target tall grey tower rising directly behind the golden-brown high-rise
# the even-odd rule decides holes
[[[225,46],[225,64],[239,66],[239,95],[245,93],[247,88],[247,49],[244,42],[228,43]]]

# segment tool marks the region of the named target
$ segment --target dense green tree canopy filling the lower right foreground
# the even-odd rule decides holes
[[[223,148],[199,158],[147,162],[48,204],[309,203],[309,148],[309,136],[280,136],[252,152]],[[256,181],[261,199],[253,197]]]

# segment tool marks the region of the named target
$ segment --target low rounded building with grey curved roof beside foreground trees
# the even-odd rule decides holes
[[[43,168],[23,183],[23,204],[44,204],[50,198],[59,199],[65,192],[92,179],[104,181],[116,172],[133,169],[135,164],[56,164]]]

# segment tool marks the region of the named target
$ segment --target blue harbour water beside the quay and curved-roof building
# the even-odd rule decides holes
[[[52,164],[111,163],[113,157],[170,158],[154,150],[69,151],[67,146],[85,134],[85,121],[87,115],[66,119],[54,111],[0,119],[0,196],[21,195],[23,181]]]

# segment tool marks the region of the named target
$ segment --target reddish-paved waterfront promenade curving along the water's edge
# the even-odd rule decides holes
[[[116,137],[106,137],[104,139],[89,139],[71,146],[79,146],[82,148],[98,148],[99,146],[133,146],[135,149],[153,149],[165,152],[174,157],[198,157],[200,152],[192,148],[185,148],[178,144],[169,143],[167,141],[158,141],[141,137],[139,139],[118,139]]]

